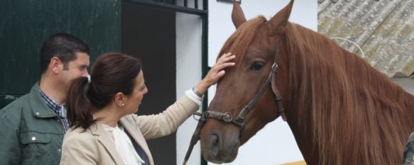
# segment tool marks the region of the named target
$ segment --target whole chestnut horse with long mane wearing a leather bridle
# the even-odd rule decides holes
[[[204,113],[207,161],[233,161],[240,145],[281,115],[307,164],[402,164],[413,95],[329,38],[290,23],[293,0],[269,21],[246,21],[233,5],[236,31],[219,55],[232,52],[236,65]]]

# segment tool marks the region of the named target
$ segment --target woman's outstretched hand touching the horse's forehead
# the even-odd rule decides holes
[[[232,67],[234,64],[236,64],[232,62],[234,58],[236,58],[236,56],[231,55],[231,52],[229,52],[217,59],[216,64],[214,64],[212,69],[209,70],[205,78],[202,79],[199,84],[197,84],[197,91],[199,91],[200,94],[204,94],[210,86],[216,84],[217,81],[219,81],[219,79],[222,78],[222,76],[224,76],[226,73],[224,69],[227,67]]]

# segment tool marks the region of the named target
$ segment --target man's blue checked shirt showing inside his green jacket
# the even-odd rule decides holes
[[[62,121],[63,130],[65,132],[67,131],[67,127],[69,127],[69,124],[67,123],[66,118],[66,109],[65,106],[59,106],[58,102],[54,101],[52,98],[47,96],[43,91],[40,89],[40,86],[38,86],[38,89],[40,91],[40,94],[42,95],[43,100],[45,101],[46,105],[48,105],[49,108],[51,108],[60,118],[60,121]]]

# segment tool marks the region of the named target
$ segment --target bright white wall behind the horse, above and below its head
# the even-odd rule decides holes
[[[242,0],[241,8],[249,20],[258,15],[270,19],[288,0]],[[231,22],[231,3],[209,1],[209,66],[217,58],[217,53],[224,42],[234,33]],[[317,30],[317,1],[297,0],[293,5],[290,21]],[[214,96],[214,88],[209,90],[209,101]],[[239,148],[239,155],[230,164],[282,164],[303,160],[295,139],[283,120],[277,119],[259,131],[246,144]],[[209,163],[212,164],[212,163]]]

